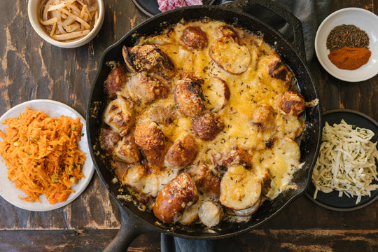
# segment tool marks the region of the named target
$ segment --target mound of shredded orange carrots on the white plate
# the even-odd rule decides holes
[[[8,179],[24,191],[27,202],[41,202],[45,195],[50,204],[65,202],[71,186],[85,177],[85,155],[78,149],[83,123],[80,118],[50,118],[43,111],[25,109],[18,118],[3,121],[0,130],[0,155],[8,167]]]

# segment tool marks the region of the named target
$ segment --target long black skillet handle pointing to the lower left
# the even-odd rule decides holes
[[[121,213],[121,226],[116,237],[106,246],[103,252],[125,252],[132,241],[144,232],[148,232],[143,224],[139,223],[137,218],[127,214],[121,204],[116,200]]]

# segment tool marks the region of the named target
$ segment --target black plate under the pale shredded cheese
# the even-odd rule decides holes
[[[370,141],[373,143],[378,141],[378,123],[374,119],[358,111],[352,111],[349,109],[335,109],[326,111],[323,113],[322,127],[324,126],[325,122],[328,122],[329,125],[333,125],[334,123],[340,123],[342,119],[344,119],[344,121],[349,125],[356,125],[357,127],[372,130],[375,135]],[[378,167],[377,160],[376,165]],[[373,181],[373,183],[378,184],[378,181]],[[352,211],[361,209],[378,199],[378,190],[374,190],[371,197],[363,196],[358,204],[356,204],[357,196],[349,198],[343,195],[342,197],[338,197],[339,192],[336,190],[332,191],[331,193],[323,193],[318,191],[316,200],[314,200],[314,192],[315,186],[311,182],[306,196],[319,206],[335,211]]]

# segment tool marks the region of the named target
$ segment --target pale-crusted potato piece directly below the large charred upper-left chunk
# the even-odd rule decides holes
[[[163,98],[169,92],[169,88],[162,84],[157,78],[148,76],[146,73],[137,73],[129,81],[127,87],[137,99],[143,103],[153,102],[155,99]]]

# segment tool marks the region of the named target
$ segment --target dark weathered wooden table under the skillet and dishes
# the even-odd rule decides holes
[[[102,52],[146,16],[131,0],[105,0],[97,38],[76,49],[45,43],[32,29],[27,1],[0,1],[0,115],[31,99],[63,102],[85,116]],[[378,12],[378,0],[332,1]],[[345,108],[378,120],[378,76],[346,83],[330,76],[316,57],[310,69],[323,110]],[[378,251],[378,202],[350,212],[329,211],[300,197],[258,230],[234,237],[241,251]],[[95,174],[71,204],[48,212],[13,207],[0,198],[0,251],[102,251],[120,227],[120,212]],[[145,234],[129,251],[159,251],[160,234]]]

